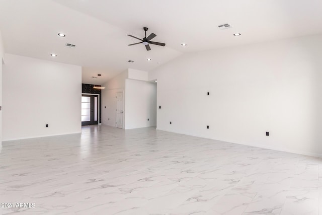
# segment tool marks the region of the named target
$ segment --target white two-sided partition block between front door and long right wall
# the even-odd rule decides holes
[[[121,107],[116,107],[116,96],[122,93],[123,125],[117,127],[156,126],[156,84],[146,79],[146,71],[127,69],[103,84],[106,89],[102,90],[102,124],[117,126],[116,115],[119,117]]]

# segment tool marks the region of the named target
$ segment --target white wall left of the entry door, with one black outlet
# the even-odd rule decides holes
[[[81,96],[81,66],[6,54],[3,140],[81,132]]]

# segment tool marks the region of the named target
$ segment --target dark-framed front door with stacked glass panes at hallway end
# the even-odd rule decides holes
[[[82,94],[82,126],[99,124],[99,96]]]

